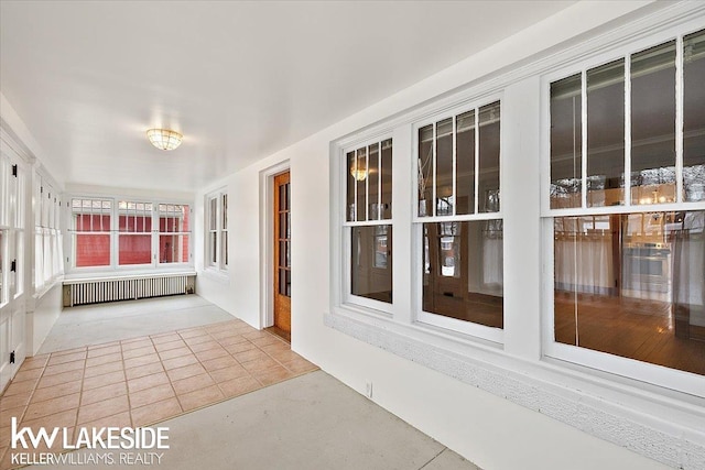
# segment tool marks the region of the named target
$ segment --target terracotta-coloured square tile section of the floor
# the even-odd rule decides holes
[[[0,396],[0,470],[13,416],[72,431],[147,426],[316,369],[237,319],[28,358]]]

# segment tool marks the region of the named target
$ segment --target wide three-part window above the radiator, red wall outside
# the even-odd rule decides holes
[[[154,267],[191,262],[187,205],[73,198],[70,207],[74,267]]]

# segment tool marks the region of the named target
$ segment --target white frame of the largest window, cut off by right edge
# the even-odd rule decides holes
[[[542,106],[542,181],[541,181],[541,226],[542,226],[542,254],[543,254],[543,292],[542,292],[542,311],[545,320],[542,327],[543,354],[546,358],[553,358],[578,367],[586,367],[598,371],[608,372],[617,376],[625,376],[651,383],[664,389],[684,392],[694,396],[705,397],[705,389],[703,386],[703,376],[684,372],[676,369],[670,369],[658,364],[638,361],[634,359],[622,358],[616,354],[599,352],[587,348],[564,345],[556,342],[554,338],[554,237],[553,221],[556,217],[570,216],[600,216],[612,214],[643,214],[653,211],[683,211],[683,210],[705,210],[705,201],[682,201],[682,183],[683,183],[683,36],[703,30],[702,22],[691,21],[677,26],[664,29],[658,33],[650,34],[638,41],[627,42],[619,46],[609,48],[608,51],[594,53],[582,61],[573,63],[545,74],[541,78],[541,106]],[[586,123],[588,109],[586,107],[586,87],[585,76],[587,70],[599,67],[600,65],[610,63],[619,58],[626,58],[625,63],[625,174],[630,173],[630,87],[629,57],[633,53],[644,51],[647,48],[661,45],[665,42],[676,40],[676,118],[675,118],[675,168],[676,168],[676,201],[666,204],[639,205],[632,204],[631,197],[631,178],[625,178],[625,204],[620,206],[608,207],[587,207],[586,204],[586,166],[587,166],[587,139]],[[551,209],[550,187],[551,187],[551,155],[550,155],[550,99],[551,84],[562,78],[570,77],[575,74],[582,74],[582,207],[578,208],[561,208]]]

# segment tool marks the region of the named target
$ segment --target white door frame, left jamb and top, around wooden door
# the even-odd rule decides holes
[[[291,173],[289,160],[260,172],[260,325],[274,325],[274,176]]]

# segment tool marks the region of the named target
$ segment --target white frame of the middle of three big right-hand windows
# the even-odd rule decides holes
[[[436,114],[426,117],[423,120],[416,121],[412,124],[412,133],[413,133],[413,144],[412,144],[412,166],[414,175],[414,183],[417,184],[417,175],[419,175],[419,130],[426,125],[434,125],[434,141],[436,139],[435,135],[435,124],[446,120],[453,120],[453,194],[457,196],[456,182],[457,177],[455,175],[456,168],[456,144],[455,144],[455,129],[456,129],[456,117],[463,114],[464,112],[475,110],[475,207],[473,209],[473,214],[467,215],[452,215],[452,216],[436,216],[436,189],[435,189],[435,142],[433,144],[433,161],[434,161],[434,170],[433,170],[433,179],[434,179],[434,188],[432,196],[432,207],[433,215],[431,216],[419,216],[419,192],[414,190],[413,196],[413,207],[412,207],[412,230],[413,230],[413,241],[414,241],[414,256],[412,261],[413,269],[413,277],[414,277],[414,288],[412,292],[414,293],[413,305],[415,305],[414,311],[416,315],[416,320],[422,324],[427,324],[430,326],[440,327],[443,329],[447,329],[451,331],[457,331],[463,335],[468,335],[470,337],[480,338],[484,340],[491,341],[497,346],[500,346],[505,341],[505,332],[501,328],[492,328],[485,325],[475,324],[471,321],[459,320],[456,318],[446,317],[438,314],[433,314],[430,311],[425,311],[423,309],[423,256],[420,256],[420,253],[423,253],[423,225],[424,223],[435,223],[435,222],[464,222],[464,221],[482,221],[482,220],[502,220],[502,204],[501,204],[501,188],[503,182],[503,161],[505,161],[505,151],[503,151],[503,135],[506,133],[505,127],[501,125],[501,117],[503,116],[503,94],[497,92],[481,97],[480,99],[475,99],[469,102],[465,102],[460,106],[451,108],[448,110],[444,110]],[[500,145],[499,145],[499,187],[500,187],[500,205],[499,211],[497,212],[480,212],[479,211],[479,110],[486,105],[490,105],[499,101],[500,106]],[[415,187],[415,186],[414,186]],[[457,208],[457,199],[453,206],[453,212],[455,214]],[[503,244],[503,242],[502,242]]]

